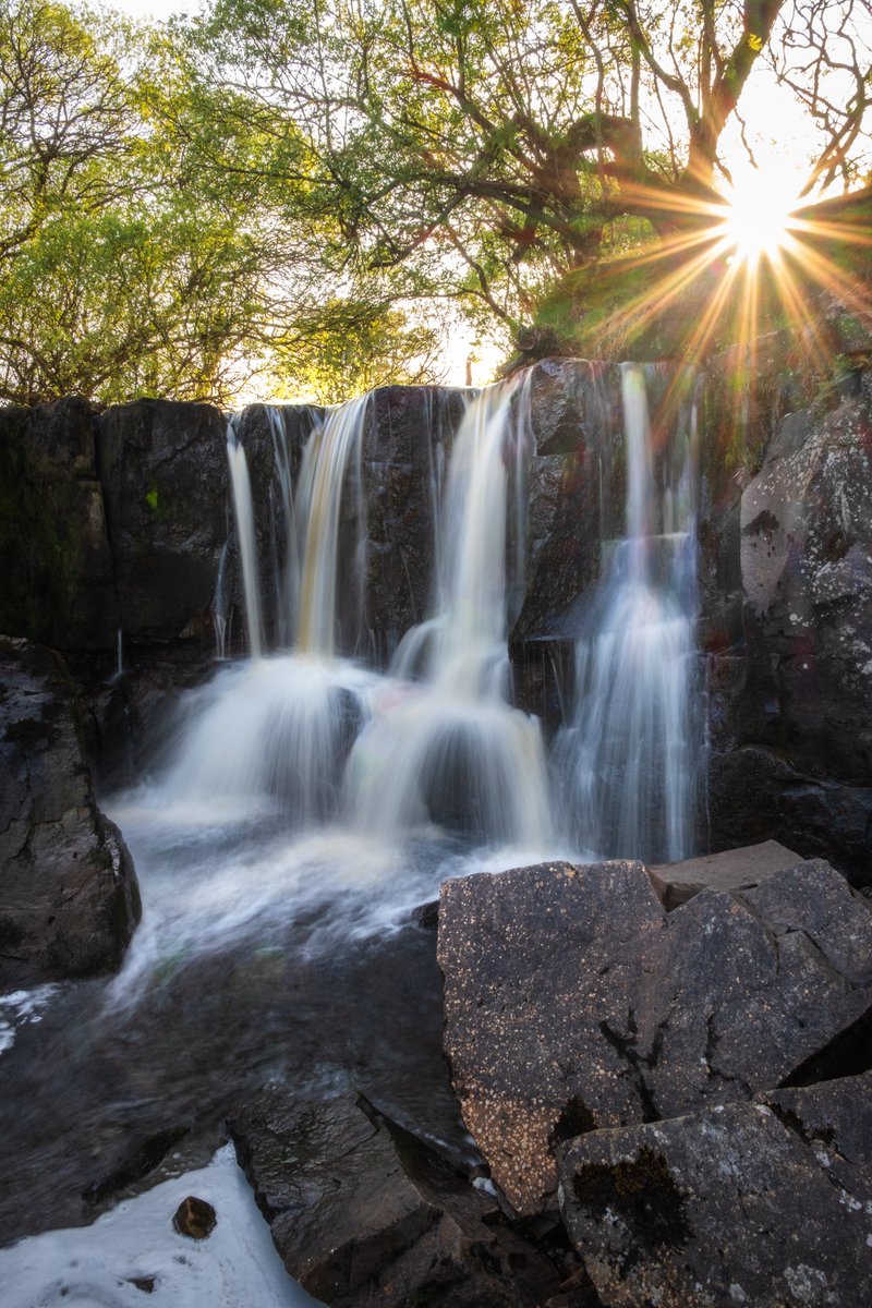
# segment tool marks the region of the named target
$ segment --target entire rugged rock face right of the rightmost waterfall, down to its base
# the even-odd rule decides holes
[[[727,540],[722,549],[735,551]],[[715,848],[801,840],[872,875],[872,378],[784,419],[741,500],[745,647],[709,667]]]

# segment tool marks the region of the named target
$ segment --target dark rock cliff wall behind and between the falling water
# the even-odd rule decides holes
[[[856,373],[811,404],[783,360],[779,371],[770,358],[765,378],[754,390],[727,360],[696,388],[709,706],[699,838],[719,849],[775,837],[860,883],[872,859],[872,378]],[[571,678],[566,615],[600,574],[603,538],[621,531],[620,369],[546,360],[524,396],[526,566],[511,587],[510,649],[519,702],[554,726]],[[460,392],[438,387],[371,396],[363,496],[341,527],[350,539],[365,515],[349,653],[386,658],[426,613],[434,505],[463,407]],[[288,523],[267,417],[247,411],[238,436],[277,638]],[[311,409],[281,411],[292,476],[312,420]],[[119,629],[131,666],[182,658],[205,670],[221,565],[229,610],[241,607],[225,437],[225,417],[208,405],[137,400],[95,412],[69,399],[0,411],[0,630],[65,653],[85,680],[114,666]],[[518,545],[510,540],[515,556]],[[161,678],[173,680],[166,667]],[[148,725],[159,698],[135,681],[92,696],[98,744],[118,736],[122,710]]]

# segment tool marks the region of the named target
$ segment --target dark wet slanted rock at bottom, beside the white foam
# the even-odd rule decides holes
[[[524,1308],[557,1290],[490,1197],[361,1097],[264,1092],[227,1125],[285,1266],[331,1308]]]

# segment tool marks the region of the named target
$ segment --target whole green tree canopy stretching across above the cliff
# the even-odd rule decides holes
[[[711,298],[763,71],[864,251],[871,44],[871,0],[0,0],[0,396],[333,400],[435,377],[444,311],[624,340]]]

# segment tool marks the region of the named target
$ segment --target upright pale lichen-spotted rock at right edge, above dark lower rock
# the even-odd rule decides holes
[[[868,785],[872,399],[784,424],[743,496],[741,572],[752,655],[778,659],[777,743],[799,770]]]

